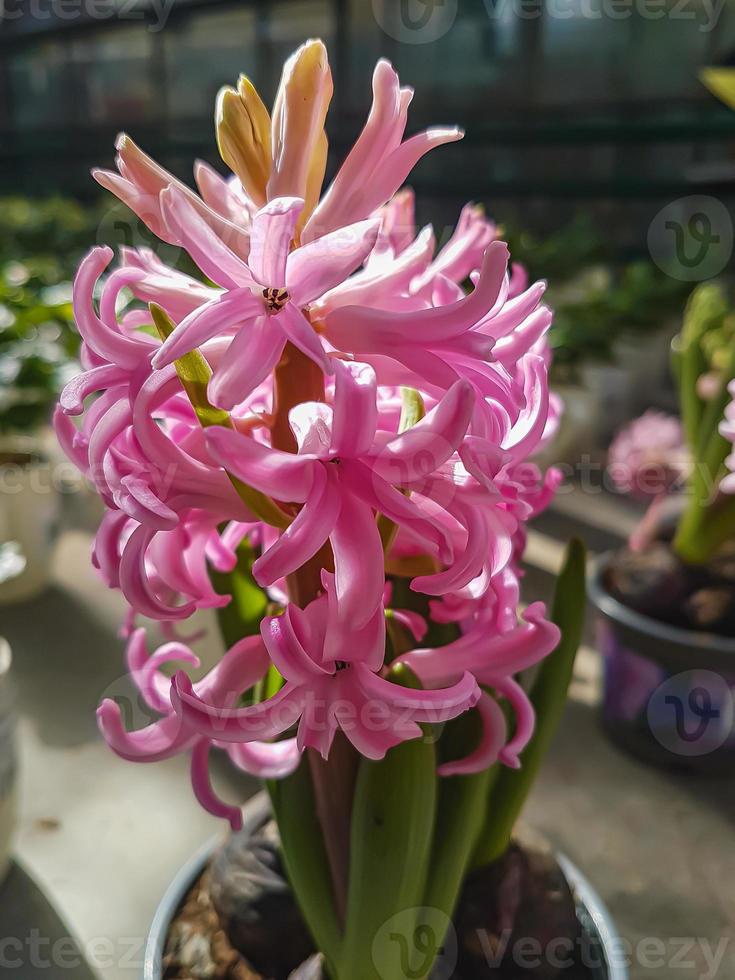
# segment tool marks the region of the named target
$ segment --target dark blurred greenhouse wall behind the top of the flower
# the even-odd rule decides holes
[[[162,3],[163,0],[156,0]],[[191,179],[217,162],[217,90],[240,72],[269,104],[284,58],[326,41],[330,171],[370,104],[376,59],[416,88],[413,131],[466,127],[412,178],[423,213],[466,199],[552,232],[584,211],[622,255],[667,202],[735,195],[735,114],[698,79],[735,47],[735,11],[702,0],[6,0],[0,18],[0,193],[93,196],[126,129]],[[415,43],[424,19],[436,40]],[[444,18],[444,20],[442,20]],[[163,23],[163,27],[161,24]],[[446,29],[446,25],[451,26]],[[414,43],[412,43],[414,42]]]

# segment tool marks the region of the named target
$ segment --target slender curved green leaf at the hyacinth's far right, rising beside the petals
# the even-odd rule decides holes
[[[505,853],[513,827],[533,786],[541,763],[561,721],[572,679],[585,614],[585,548],[577,538],[570,541],[556,591],[551,619],[561,630],[561,640],[542,662],[530,692],[536,712],[533,738],[521,756],[520,769],[501,768],[488,801],[485,824],[473,855],[473,866],[489,864]]]

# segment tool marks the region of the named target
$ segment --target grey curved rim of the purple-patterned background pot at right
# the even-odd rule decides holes
[[[604,574],[611,564],[613,555],[613,551],[605,551],[597,555],[592,560],[587,575],[587,596],[603,616],[638,633],[653,634],[658,640],[672,646],[699,650],[703,654],[711,653],[715,649],[720,654],[735,657],[735,639],[705,630],[687,630],[681,626],[662,623],[652,616],[630,609],[612,596],[605,586]]]

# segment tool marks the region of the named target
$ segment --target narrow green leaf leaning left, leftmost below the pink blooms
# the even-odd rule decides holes
[[[339,960],[342,937],[306,754],[293,775],[271,780],[267,787],[288,880],[314,943],[324,954],[328,973],[338,976],[334,967]]]

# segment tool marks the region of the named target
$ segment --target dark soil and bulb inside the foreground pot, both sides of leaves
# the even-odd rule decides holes
[[[437,980],[594,980],[600,951],[577,917],[549,847],[513,844],[468,877],[455,915],[456,959]],[[232,835],[193,886],[169,931],[164,980],[319,980],[302,966],[309,934],[283,876],[275,825]],[[592,969],[590,968],[592,967]],[[302,973],[302,970],[304,971]]]

